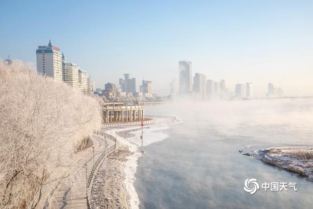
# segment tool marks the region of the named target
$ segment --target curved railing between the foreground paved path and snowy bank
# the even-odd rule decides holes
[[[112,141],[114,141],[114,144],[107,147],[99,156],[99,158],[94,162],[94,164],[92,165],[92,168],[89,172],[89,175],[87,177],[87,194],[86,194],[86,198],[87,198],[87,208],[91,209],[90,206],[90,200],[89,200],[89,194],[88,194],[88,190],[89,190],[89,186],[90,183],[92,181],[92,178],[94,177],[94,172],[96,170],[96,168],[98,167],[98,165],[103,161],[103,159],[105,157],[107,157],[110,153],[112,153],[113,151],[115,151],[117,144],[116,144],[116,139],[111,136],[110,134],[104,133],[102,131],[94,131],[93,134],[96,134],[98,136],[102,136],[102,137],[106,137],[108,139],[111,139]]]

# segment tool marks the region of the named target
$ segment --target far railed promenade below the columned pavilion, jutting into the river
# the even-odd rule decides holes
[[[175,122],[176,117],[174,116],[154,116],[154,115],[145,115],[145,118],[156,118],[153,120],[143,120],[142,123],[143,125],[156,125],[160,123],[170,123],[170,122]],[[141,125],[141,120],[140,121],[132,121],[132,122],[124,122],[124,123],[105,123],[102,124],[103,128],[108,128],[108,127],[116,127],[116,126],[135,126],[135,125]]]

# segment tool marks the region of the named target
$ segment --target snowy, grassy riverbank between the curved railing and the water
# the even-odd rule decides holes
[[[164,126],[151,126],[144,129],[143,146],[166,139],[161,131]],[[103,208],[104,196],[112,199],[112,208],[138,209],[139,198],[134,188],[134,174],[141,151],[141,129],[138,127],[112,129],[117,131],[117,150],[100,165],[91,189],[92,207]],[[110,130],[106,131],[110,134]],[[109,207],[110,208],[110,207]]]

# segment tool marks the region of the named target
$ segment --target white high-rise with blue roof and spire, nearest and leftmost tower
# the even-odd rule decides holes
[[[52,46],[51,40],[48,46],[38,46],[36,50],[37,71],[54,80],[62,81],[62,54],[60,49]]]

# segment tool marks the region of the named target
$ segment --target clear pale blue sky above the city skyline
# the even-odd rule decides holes
[[[273,82],[313,94],[312,0],[6,0],[0,7],[0,58],[36,63],[37,46],[51,39],[97,87],[128,72],[137,85],[145,78],[167,93],[186,59],[231,91],[253,82],[264,95]]]

